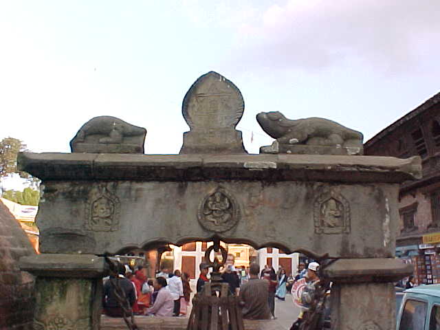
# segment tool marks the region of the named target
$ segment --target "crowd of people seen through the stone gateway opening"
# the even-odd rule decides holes
[[[263,270],[256,263],[250,267],[234,267],[234,255],[228,254],[225,266],[220,270],[224,283],[228,283],[230,294],[239,296],[243,318],[253,320],[274,319],[275,299],[285,300],[292,283],[301,278],[307,279],[304,297],[301,296],[303,310],[307,311],[314,294],[314,287],[319,282],[318,263],[309,263],[305,267],[300,263],[298,274],[287,276],[283,267],[275,272],[273,267],[265,265]],[[206,263],[199,265],[200,275],[197,279],[197,293],[203,291],[205,283],[209,280],[209,266]],[[112,283],[113,281],[113,283]],[[118,286],[129,301],[133,313],[146,316],[186,316],[190,304],[190,276],[175,270],[173,273],[162,269],[154,279],[147,279],[142,266],[131,270],[128,266],[120,267]],[[104,281],[103,307],[104,314],[112,317],[122,317],[123,311],[119,305],[118,294],[115,294],[113,278]],[[298,326],[303,315],[292,326]]]

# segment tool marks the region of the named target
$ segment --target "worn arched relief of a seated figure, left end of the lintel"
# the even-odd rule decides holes
[[[120,201],[105,184],[91,188],[85,207],[85,227],[96,232],[119,229]]]

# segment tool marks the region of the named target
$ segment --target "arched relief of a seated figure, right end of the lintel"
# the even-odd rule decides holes
[[[316,234],[349,234],[351,230],[350,206],[337,192],[326,192],[314,203]]]

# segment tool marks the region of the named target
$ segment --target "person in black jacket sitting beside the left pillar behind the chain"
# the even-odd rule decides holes
[[[125,297],[127,298],[127,300],[129,300],[130,307],[136,300],[135,287],[133,283],[124,276],[125,267],[120,267],[118,272],[118,278],[109,278],[109,280],[104,283],[104,301],[102,303],[102,306],[104,307],[104,313],[107,316],[111,316],[114,318],[122,318],[124,313],[118,303],[118,300],[116,299],[115,287],[113,287],[112,281],[115,285],[118,285],[122,289]]]

